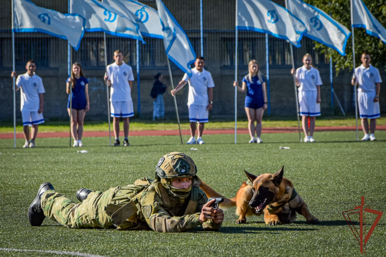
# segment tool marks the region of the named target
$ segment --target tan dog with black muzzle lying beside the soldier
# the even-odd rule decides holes
[[[200,188],[208,197],[223,197],[220,208],[229,209],[236,206],[237,224],[247,222],[246,216],[261,215],[267,225],[292,223],[296,212],[303,215],[308,223],[319,224],[308,210],[307,204],[296,193],[292,182],[283,177],[284,166],[275,174],[255,176],[244,171],[250,181],[242,183],[236,197],[228,199],[201,181]]]

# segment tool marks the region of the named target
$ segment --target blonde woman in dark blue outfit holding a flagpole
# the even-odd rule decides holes
[[[249,134],[251,136],[249,142],[262,143],[260,138],[261,120],[264,110],[267,109],[266,81],[261,75],[256,60],[249,62],[248,70],[248,75],[242,79],[242,87],[239,86],[237,81],[233,83],[233,86],[237,86],[237,90],[241,93],[247,92],[245,97],[245,113],[247,113]]]

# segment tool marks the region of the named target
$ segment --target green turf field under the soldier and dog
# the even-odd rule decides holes
[[[265,134],[264,143],[248,144],[249,136],[239,135],[234,144],[233,135],[204,135],[204,145],[181,145],[176,136],[130,137],[132,146],[126,148],[107,146],[108,138],[84,138],[86,146],[81,149],[66,147],[66,138],[38,138],[36,149],[22,149],[23,139],[13,149],[13,140],[1,139],[0,248],[103,256],[362,256],[342,212],[359,206],[361,196],[365,205],[386,211],[386,132],[376,136],[375,142],[356,142],[355,132],[321,132],[314,135],[316,143],[299,143],[296,133]],[[76,200],[79,188],[107,190],[154,177],[157,161],[170,151],[190,155],[200,178],[226,197],[234,197],[246,180],[244,169],[273,173],[284,165],[285,177],[321,224],[308,225],[298,215],[287,225],[267,226],[262,216],[236,225],[231,209],[219,232],[68,229],[48,219],[41,227],[29,225],[27,210],[42,182],[51,182],[58,192]],[[367,231],[374,219],[375,215],[366,215]],[[358,217],[354,221],[359,228]],[[385,235],[382,216],[365,254],[384,256]],[[55,256],[2,250],[0,255]]]

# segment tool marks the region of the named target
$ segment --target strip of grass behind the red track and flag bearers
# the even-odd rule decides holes
[[[316,126],[355,126],[354,117],[318,117]],[[377,119],[378,125],[386,124],[386,117]],[[359,120],[360,125],[360,120]],[[297,120],[288,119],[288,117],[272,117],[263,118],[263,128],[266,127],[297,127]],[[238,128],[247,128],[248,120],[241,119],[237,121]],[[205,124],[207,130],[223,130],[234,129],[234,120],[210,120]],[[111,129],[113,129],[111,127]],[[189,130],[189,121],[181,120],[181,129]],[[67,121],[47,121],[39,125],[39,132],[67,132],[69,130],[69,122]],[[109,123],[102,121],[84,121],[84,131],[108,131]],[[120,130],[123,131],[123,123],[120,122]],[[143,119],[130,119],[130,131],[144,131],[144,130],[178,130],[177,121],[175,120],[160,120],[151,121]],[[16,132],[23,133],[22,122],[16,122]],[[0,133],[13,133],[13,122],[0,122]]]

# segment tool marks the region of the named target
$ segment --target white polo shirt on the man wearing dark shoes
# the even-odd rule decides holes
[[[110,101],[131,101],[129,81],[134,80],[133,69],[130,65],[115,62],[107,66],[108,80],[111,82]]]

